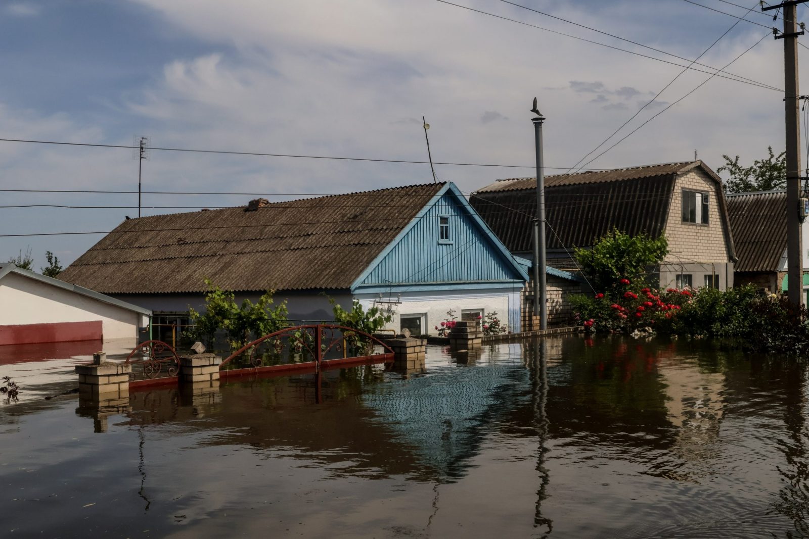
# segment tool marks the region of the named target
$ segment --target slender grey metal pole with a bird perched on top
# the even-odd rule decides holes
[[[540,330],[548,329],[548,286],[545,267],[545,179],[542,166],[542,122],[545,117],[536,108],[536,97],[531,112],[536,117],[534,141],[536,142],[536,220],[534,221],[534,316],[540,317]],[[539,290],[537,290],[539,288]]]

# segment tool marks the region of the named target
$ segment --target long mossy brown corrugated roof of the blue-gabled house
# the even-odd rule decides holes
[[[444,183],[124,221],[59,279],[103,293],[349,288]]]

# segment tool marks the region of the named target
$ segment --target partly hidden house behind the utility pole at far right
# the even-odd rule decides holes
[[[733,241],[739,262],[736,284],[756,284],[769,292],[786,290],[786,191],[737,193],[727,196]],[[809,221],[801,225],[803,269],[809,268]],[[803,288],[809,287],[803,276]]]

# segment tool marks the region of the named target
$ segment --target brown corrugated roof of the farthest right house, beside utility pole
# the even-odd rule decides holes
[[[737,272],[777,272],[786,251],[786,191],[727,196]]]

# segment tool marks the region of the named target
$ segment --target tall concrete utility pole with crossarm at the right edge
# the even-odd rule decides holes
[[[794,305],[803,303],[803,242],[801,238],[800,189],[800,120],[798,91],[798,36],[803,35],[803,24],[798,32],[795,20],[798,4],[809,0],[788,0],[778,6],[763,6],[761,11],[770,11],[781,7],[784,17],[784,31],[777,40],[784,40],[784,109],[786,124],[786,284],[790,302]]]

